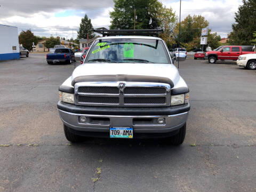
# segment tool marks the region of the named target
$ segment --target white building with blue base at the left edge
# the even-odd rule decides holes
[[[20,59],[18,28],[0,25],[0,60]]]

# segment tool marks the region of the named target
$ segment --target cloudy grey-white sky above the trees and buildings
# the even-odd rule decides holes
[[[179,14],[179,0],[161,2]],[[227,37],[234,23],[235,12],[241,4],[242,0],[182,0],[181,20],[188,14],[201,14],[210,22],[212,31]],[[19,33],[31,29],[39,36],[76,38],[85,13],[91,18],[94,28],[108,28],[109,11],[113,7],[113,0],[0,0],[0,24],[17,26]]]

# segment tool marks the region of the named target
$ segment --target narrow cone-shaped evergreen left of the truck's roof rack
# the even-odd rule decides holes
[[[87,34],[89,34],[89,39],[95,37],[93,33],[93,27],[91,23],[91,19],[88,18],[87,14],[84,15],[84,18],[81,19],[79,30],[77,31],[77,38],[81,39],[87,38]]]

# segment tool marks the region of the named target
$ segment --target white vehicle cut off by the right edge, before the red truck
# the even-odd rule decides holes
[[[256,54],[244,54],[238,57],[236,61],[239,67],[244,67],[247,69],[256,69]]]

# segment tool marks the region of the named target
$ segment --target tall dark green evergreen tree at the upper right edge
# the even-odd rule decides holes
[[[256,1],[243,0],[235,13],[233,31],[229,34],[229,43],[236,45],[250,45],[253,39],[253,31],[256,30]]]

